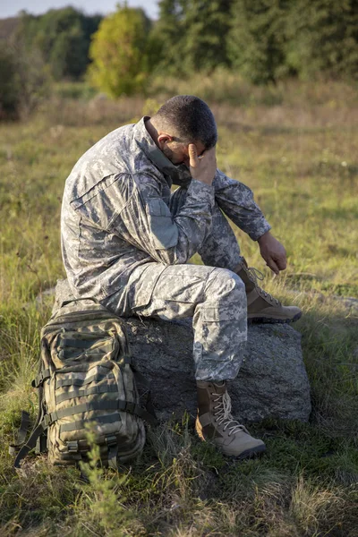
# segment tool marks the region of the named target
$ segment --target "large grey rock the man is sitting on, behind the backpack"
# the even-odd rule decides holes
[[[54,311],[71,298],[66,280],[55,290]],[[191,320],[168,322],[126,318],[139,371],[151,380],[158,416],[196,413]],[[287,325],[252,325],[239,375],[230,383],[233,413],[243,422],[266,417],[307,421],[310,385],[303,364],[301,335]]]

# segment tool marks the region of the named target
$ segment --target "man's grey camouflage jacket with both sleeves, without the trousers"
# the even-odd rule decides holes
[[[146,119],[107,134],[67,178],[62,252],[76,294],[106,299],[143,264],[186,263],[209,234],[215,201],[253,240],[270,228],[243,183],[217,170],[210,186],[174,166],[147,132]],[[175,215],[169,209],[172,183],[188,189]]]

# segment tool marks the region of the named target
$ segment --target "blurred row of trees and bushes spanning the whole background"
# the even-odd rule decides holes
[[[0,21],[0,117],[36,107],[51,81],[117,98],[217,70],[255,85],[357,81],[358,3],[161,0],[158,21],[126,4],[106,18],[66,7]]]

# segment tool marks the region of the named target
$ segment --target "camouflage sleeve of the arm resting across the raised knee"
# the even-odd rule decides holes
[[[217,204],[236,226],[249,234],[253,241],[271,229],[260,207],[253,200],[253,193],[248,186],[230,179],[217,170],[214,179]]]

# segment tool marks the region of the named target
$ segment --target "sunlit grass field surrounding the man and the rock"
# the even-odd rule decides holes
[[[166,91],[209,100],[218,166],[253,189],[286,245],[289,267],[272,279],[257,245],[237,231],[245,257],[266,275],[265,289],[303,308],[295,328],[303,334],[311,421],[251,426],[268,452],[242,463],[201,444],[183,417],[149,433],[140,461],[120,473],[94,469],[90,484],[42,457],[14,472],[13,429],[21,409],[36,413],[30,380],[51,308],[45,292],[64,276],[64,180],[95,141],[150,114],[162,93],[147,102],[57,97],[26,123],[0,125],[2,537],[358,536],[358,312],[346,300],[358,294],[357,93],[338,84],[245,87],[235,107],[234,83],[229,104],[217,104],[212,84],[201,81],[200,93],[194,82],[190,89],[168,82]]]

